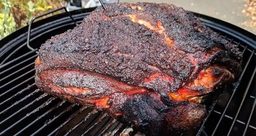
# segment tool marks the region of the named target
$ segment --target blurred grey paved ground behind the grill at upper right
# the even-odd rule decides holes
[[[183,7],[185,10],[224,20],[256,34],[256,28],[242,25],[244,21],[250,19],[242,14],[242,10],[246,4],[245,0],[120,0],[120,2],[130,3],[143,1],[172,3],[176,6]]]

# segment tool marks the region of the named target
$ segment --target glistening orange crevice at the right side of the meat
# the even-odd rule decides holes
[[[234,75],[226,67],[213,65],[201,70],[194,81],[179,88],[176,92],[169,92],[169,97],[173,101],[201,103],[202,99],[215,90],[217,85],[231,80],[234,80]]]

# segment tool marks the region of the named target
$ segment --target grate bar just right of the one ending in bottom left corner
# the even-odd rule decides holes
[[[20,133],[22,133],[24,130],[26,130],[27,128],[29,128],[31,125],[33,125],[35,122],[37,122],[38,120],[42,119],[43,117],[47,116],[49,113],[51,113],[53,110],[57,109],[58,107],[62,106],[62,104],[64,104],[65,100],[59,102],[58,104],[56,104],[55,106],[53,106],[51,109],[49,109],[47,112],[45,112],[43,115],[39,116],[37,119],[35,119],[34,121],[32,121],[31,123],[29,123],[28,125],[26,125],[22,130],[20,130],[19,132],[17,132],[14,136],[19,135]]]

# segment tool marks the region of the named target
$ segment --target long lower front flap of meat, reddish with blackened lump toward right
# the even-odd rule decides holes
[[[157,92],[88,71],[49,69],[37,73],[35,82],[49,94],[105,111],[151,135],[194,128],[206,115],[202,105],[173,102],[167,106]]]

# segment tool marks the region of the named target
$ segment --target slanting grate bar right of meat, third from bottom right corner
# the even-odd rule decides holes
[[[249,59],[247,60],[246,65],[245,65],[245,67],[244,67],[244,69],[243,69],[243,71],[242,71],[242,73],[241,73],[241,75],[240,75],[240,77],[239,77],[237,83],[240,83],[240,82],[241,82],[241,80],[242,80],[242,78],[243,78],[243,75],[244,75],[244,73],[245,73],[245,70],[246,70],[247,66],[249,65],[249,63],[250,63],[253,54],[254,54],[254,51],[251,53]],[[238,85],[239,85],[239,84],[238,84]],[[218,121],[218,123],[217,123],[217,125],[216,125],[216,127],[215,127],[215,129],[214,129],[214,131],[213,131],[213,133],[212,133],[212,136],[214,136],[215,132],[216,132],[217,129],[218,129],[219,124],[221,123],[221,121],[222,121],[224,115],[226,114],[226,111],[227,111],[227,109],[228,109],[228,106],[229,106],[229,104],[230,104],[230,102],[231,102],[231,100],[232,100],[232,98],[233,98],[233,96],[234,96],[234,94],[235,94],[235,92],[236,92],[236,90],[237,90],[237,88],[238,88],[238,85],[234,87],[233,92],[232,92],[232,95],[231,95],[231,97],[229,98],[229,101],[228,101],[228,103],[227,103],[227,105],[226,105],[226,107],[225,107],[225,109],[224,109],[224,112],[222,113],[221,118],[219,119],[219,121]]]

